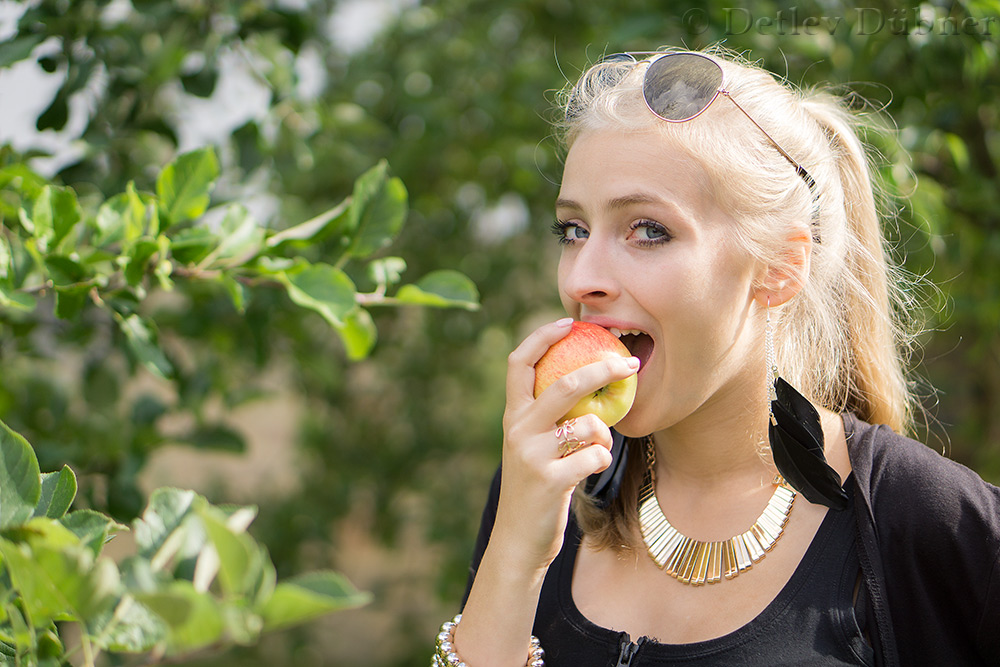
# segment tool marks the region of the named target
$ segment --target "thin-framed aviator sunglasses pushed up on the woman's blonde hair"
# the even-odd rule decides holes
[[[815,198],[816,181],[733,99],[724,86],[725,77],[719,63],[700,53],[682,52],[660,55],[661,53],[657,51],[615,53],[605,56],[601,63],[636,64],[639,62],[636,56],[659,55],[658,58],[650,61],[642,79],[642,96],[646,100],[646,106],[655,116],[668,123],[684,123],[700,116],[719,95],[722,95],[732,102],[767,137],[767,140],[781,153],[782,157],[795,167],[795,172],[809,186],[809,190]],[[617,83],[613,73],[602,74],[601,77],[602,83],[608,85]],[[620,80],[620,77],[618,79]],[[578,109],[573,108],[572,100],[570,100],[566,110],[567,117],[572,118],[575,115],[574,111],[578,111]],[[818,236],[816,240],[819,240]]]

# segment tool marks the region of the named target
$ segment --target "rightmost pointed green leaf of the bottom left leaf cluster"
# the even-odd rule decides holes
[[[368,604],[371,595],[359,592],[336,572],[311,572],[279,583],[260,607],[266,631],[287,628],[342,609]]]

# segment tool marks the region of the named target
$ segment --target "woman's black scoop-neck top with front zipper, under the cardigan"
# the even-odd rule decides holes
[[[490,493],[492,512],[498,486]],[[850,488],[848,494],[853,496]],[[539,597],[534,634],[548,667],[874,664],[852,606],[860,564],[851,511],[827,514],[791,579],[755,619],[717,639],[692,644],[631,638],[584,617],[572,596],[582,538],[571,517],[564,547],[549,567]],[[477,549],[475,561],[481,556]]]

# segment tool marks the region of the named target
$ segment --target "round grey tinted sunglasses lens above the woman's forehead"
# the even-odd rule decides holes
[[[642,84],[650,110],[663,120],[691,120],[719,94],[722,68],[691,53],[666,55],[654,60]]]

